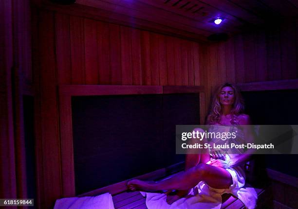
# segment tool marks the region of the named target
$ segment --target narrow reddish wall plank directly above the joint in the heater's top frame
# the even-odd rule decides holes
[[[168,85],[168,71],[167,71],[167,46],[166,46],[166,36],[158,36],[158,52],[159,52],[159,76],[160,85]]]

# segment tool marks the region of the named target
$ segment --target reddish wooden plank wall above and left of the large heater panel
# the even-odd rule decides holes
[[[202,44],[39,8],[32,9],[38,94],[40,207],[61,198],[58,85],[184,85],[201,82]],[[38,57],[38,59],[36,59]]]

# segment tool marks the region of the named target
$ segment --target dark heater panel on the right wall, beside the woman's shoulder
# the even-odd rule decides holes
[[[253,124],[298,124],[298,89],[242,92]],[[261,157],[261,156],[260,156]],[[266,167],[297,176],[298,155],[267,155]]]

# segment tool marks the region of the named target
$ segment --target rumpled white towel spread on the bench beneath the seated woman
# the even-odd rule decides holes
[[[141,192],[146,197],[148,209],[220,209],[222,194],[231,193],[238,197],[246,209],[256,208],[257,192],[254,188],[244,188],[244,176],[235,169],[227,169],[233,179],[233,184],[228,189],[214,189],[204,181],[198,183],[187,197],[181,198],[171,205],[166,202],[167,196],[162,193]]]

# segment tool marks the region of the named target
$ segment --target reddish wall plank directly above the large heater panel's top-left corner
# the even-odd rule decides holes
[[[70,17],[72,84],[85,84],[84,19]]]

